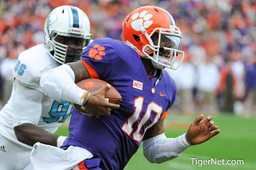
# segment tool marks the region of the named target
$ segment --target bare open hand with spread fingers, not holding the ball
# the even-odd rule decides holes
[[[218,127],[213,126],[214,122],[212,121],[212,116],[207,116],[207,118],[201,122],[203,118],[204,115],[201,114],[188,128],[188,140],[194,145],[204,143],[220,133],[220,129],[216,130]],[[216,131],[212,132],[214,130]]]

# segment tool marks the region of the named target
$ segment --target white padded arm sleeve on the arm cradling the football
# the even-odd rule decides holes
[[[63,64],[46,72],[40,80],[40,86],[54,100],[82,105],[85,90],[76,86],[74,81],[74,71],[69,65]]]

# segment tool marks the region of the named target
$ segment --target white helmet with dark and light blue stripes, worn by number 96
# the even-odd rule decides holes
[[[81,9],[68,5],[59,6],[52,10],[45,20],[45,47],[60,64],[78,61],[91,40],[90,28],[90,21]],[[76,48],[56,42],[57,36],[80,38],[83,47]]]

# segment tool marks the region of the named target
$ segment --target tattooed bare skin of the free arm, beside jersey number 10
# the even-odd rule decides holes
[[[143,140],[155,137],[164,133],[164,119],[159,119],[156,124],[154,124],[148,131],[145,133]]]

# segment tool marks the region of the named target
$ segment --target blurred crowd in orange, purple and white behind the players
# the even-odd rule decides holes
[[[87,14],[94,40],[122,41],[125,17],[140,6],[166,9],[185,52],[181,66],[167,70],[177,84],[170,113],[256,116],[256,0],[0,0],[0,108],[19,53],[44,43],[44,21],[60,5]]]

